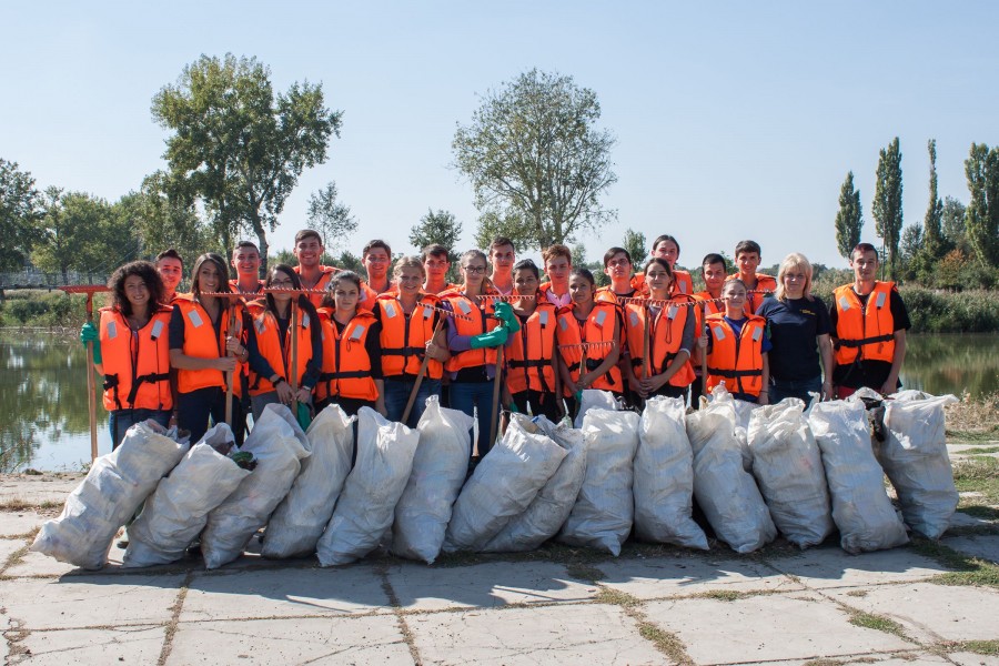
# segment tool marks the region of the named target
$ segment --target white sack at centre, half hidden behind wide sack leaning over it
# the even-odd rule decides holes
[[[515,516],[486,544],[483,548],[486,553],[533,551],[558,534],[573,511],[586,475],[586,437],[583,431],[569,427],[567,421],[556,425],[544,416],[532,421],[523,414],[513,414],[513,418],[528,433],[551,437],[565,448],[566,455],[524,513]]]

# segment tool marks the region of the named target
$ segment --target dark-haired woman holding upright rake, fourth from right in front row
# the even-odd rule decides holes
[[[686,398],[687,387],[694,381],[694,369],[688,363],[696,337],[694,307],[689,305],[694,299],[674,294],[673,271],[669,263],[658,256],[645,264],[645,284],[650,301],[668,301],[669,304],[625,305],[628,385],[642,398],[653,395]],[[644,354],[646,329],[647,356]]]

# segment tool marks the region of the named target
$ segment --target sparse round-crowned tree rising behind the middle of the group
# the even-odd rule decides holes
[[[596,93],[572,77],[533,69],[488,91],[452,142],[455,167],[483,212],[519,216],[522,250],[565,243],[616,218],[601,195],[617,181],[615,139],[597,130]]]

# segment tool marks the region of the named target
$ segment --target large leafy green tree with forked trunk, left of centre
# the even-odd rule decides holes
[[[202,56],[152,101],[153,119],[173,132],[171,190],[203,201],[226,251],[242,230],[255,234],[262,271],[268,231],[302,171],[325,162],[342,117],[325,108],[322,85],[295,82],[275,97],[270,77],[255,58]]]

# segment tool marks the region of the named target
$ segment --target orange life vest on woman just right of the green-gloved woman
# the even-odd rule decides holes
[[[511,333],[506,343],[506,387],[511,393],[555,391],[555,370],[552,360],[555,350],[557,309],[539,301],[537,307],[521,322],[521,330]]]

